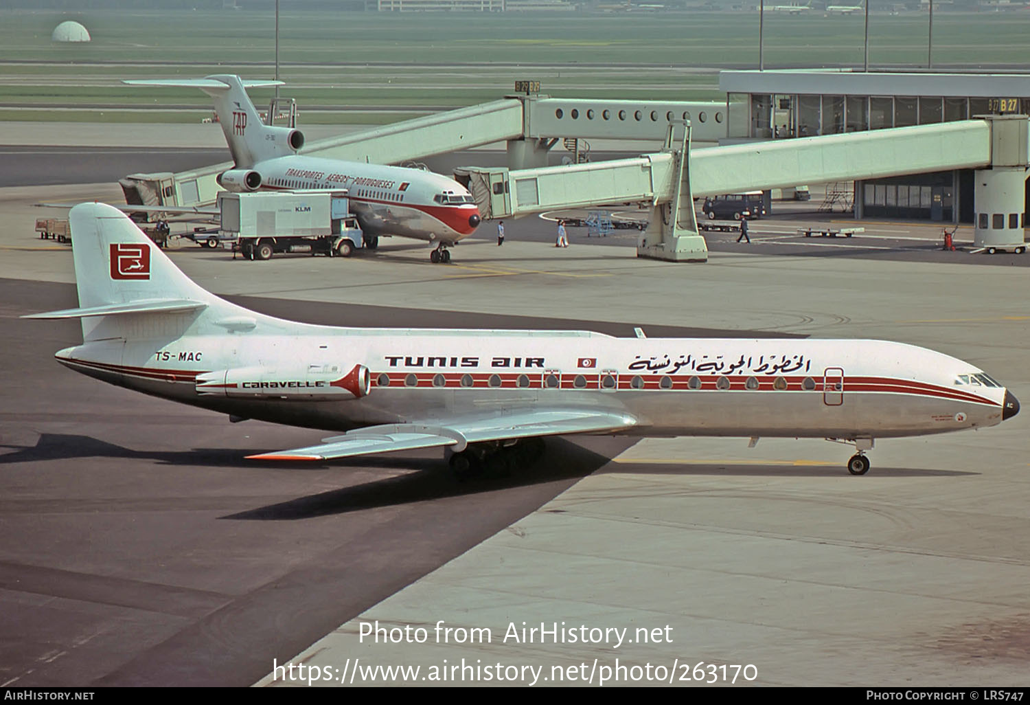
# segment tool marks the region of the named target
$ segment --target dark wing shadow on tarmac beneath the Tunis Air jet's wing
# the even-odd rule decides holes
[[[612,455],[617,455],[618,451],[630,447],[637,442],[636,439],[618,440],[621,441],[621,448],[616,449]],[[365,484],[301,497],[288,502],[271,504],[221,518],[304,519],[447,497],[512,490],[545,482],[575,480],[603,467],[609,462],[609,459],[607,450],[605,455],[600,455],[564,438],[548,438],[547,449],[543,458],[529,467],[510,474],[484,474],[465,481],[457,480],[440,461],[397,459],[407,461],[407,467],[418,465],[424,469]],[[360,462],[362,467],[369,467],[370,460],[364,458],[358,462]],[[377,460],[388,461],[391,459]],[[396,466],[394,463],[390,463],[390,465]]]

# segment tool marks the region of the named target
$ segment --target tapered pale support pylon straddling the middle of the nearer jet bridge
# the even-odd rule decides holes
[[[677,137],[679,136],[679,139]],[[671,124],[664,152],[673,156],[667,189],[654,184],[653,192],[672,193],[666,203],[651,208],[648,229],[640,236],[637,257],[670,262],[708,262],[708,245],[697,232],[694,199],[690,191],[690,124]]]

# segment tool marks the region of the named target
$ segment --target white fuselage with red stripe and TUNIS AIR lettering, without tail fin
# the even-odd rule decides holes
[[[554,404],[629,412],[639,423],[625,433],[639,435],[872,438],[993,426],[1002,421],[1005,395],[993,380],[971,377],[983,373],[961,360],[878,340],[613,338],[258,322],[172,339],[153,330],[128,342],[87,342],[57,358],[159,397],[333,430]],[[138,332],[146,333],[142,328]],[[368,396],[197,391],[198,375],[212,370],[258,366],[286,380],[327,365],[367,367]]]

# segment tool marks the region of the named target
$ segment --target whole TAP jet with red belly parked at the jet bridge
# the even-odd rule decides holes
[[[457,181],[421,169],[367,164],[299,154],[304,134],[265,125],[247,88],[278,80],[243,81],[235,75],[206,78],[126,80],[132,86],[197,88],[211,96],[235,162],[218,175],[227,191],[346,189],[350,207],[372,247],[380,235],[437,243],[433,262],[450,262],[447,247],[468,237],[482,221],[476,200]]]

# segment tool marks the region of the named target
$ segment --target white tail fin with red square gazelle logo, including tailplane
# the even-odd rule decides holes
[[[125,327],[140,314],[185,314],[181,324],[190,325],[205,310],[221,316],[245,310],[195,283],[117,208],[81,203],[68,220],[79,308],[26,317],[80,317],[90,340],[127,337]]]

